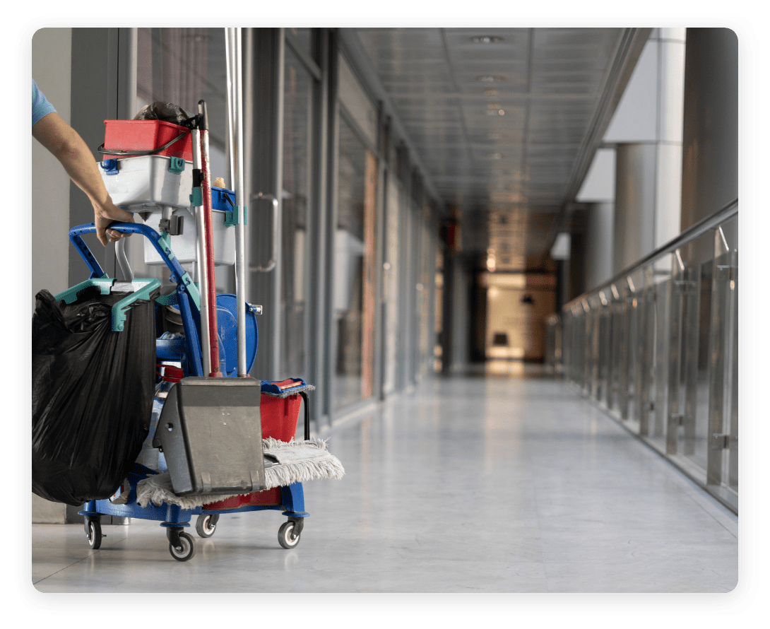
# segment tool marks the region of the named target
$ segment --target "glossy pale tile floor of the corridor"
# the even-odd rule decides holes
[[[565,383],[430,379],[322,436],[346,476],[305,484],[295,549],[278,545],[277,511],[223,515],[184,563],[158,522],[104,527],[99,550],[81,525],[34,524],[35,587],[717,593],[738,580],[738,518]]]

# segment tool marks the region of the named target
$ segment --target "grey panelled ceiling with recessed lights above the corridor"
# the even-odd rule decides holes
[[[547,268],[650,28],[341,28],[427,188],[494,270]]]

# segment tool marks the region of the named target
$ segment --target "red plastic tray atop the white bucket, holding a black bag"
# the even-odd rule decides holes
[[[181,157],[192,162],[192,133],[186,127],[162,120],[105,120],[105,150],[152,151],[186,132],[186,137],[174,142],[157,155]],[[104,155],[102,159],[123,159],[127,155]]]

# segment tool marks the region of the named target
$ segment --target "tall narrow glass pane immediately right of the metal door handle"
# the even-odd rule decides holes
[[[307,212],[313,79],[286,47],[283,94],[283,222],[281,273],[281,363],[287,376],[307,371]]]

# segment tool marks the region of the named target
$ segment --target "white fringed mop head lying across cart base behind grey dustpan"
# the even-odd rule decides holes
[[[310,441],[291,440],[286,443],[268,437],[262,440],[262,447],[263,453],[272,455],[280,463],[265,469],[266,490],[320,478],[340,479],[345,474],[340,460],[326,451],[326,440],[313,438]],[[173,492],[169,472],[149,476],[136,485],[136,502],[140,507],[146,507],[150,502],[160,507],[166,502],[177,504],[182,509],[194,509],[237,495],[177,496]]]

